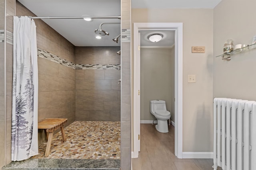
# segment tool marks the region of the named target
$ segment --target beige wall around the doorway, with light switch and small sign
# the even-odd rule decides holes
[[[135,22],[183,23],[183,152],[212,152],[213,9],[132,9]],[[192,46],[206,53],[191,53]]]

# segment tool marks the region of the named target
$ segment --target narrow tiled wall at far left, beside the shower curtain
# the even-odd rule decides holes
[[[7,35],[13,32],[15,3],[15,0],[0,0],[0,167],[11,161],[13,47]]]

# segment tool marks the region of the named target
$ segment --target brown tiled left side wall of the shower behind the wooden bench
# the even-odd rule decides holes
[[[35,16],[16,2],[16,16]],[[35,19],[37,47],[74,63],[75,47],[42,20]],[[49,54],[50,55],[50,54]],[[75,120],[75,69],[38,57],[38,121],[44,118]],[[39,143],[44,139],[39,131]]]

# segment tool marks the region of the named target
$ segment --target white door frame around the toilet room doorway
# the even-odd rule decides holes
[[[174,120],[175,120],[175,156],[182,158],[182,78],[183,78],[183,23],[134,23],[133,28],[133,158],[138,158],[140,151],[140,30],[174,30],[175,31],[175,86],[174,86]],[[136,74],[135,74],[136,73]]]

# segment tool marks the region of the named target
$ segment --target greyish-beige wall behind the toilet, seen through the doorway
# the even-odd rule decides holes
[[[164,100],[172,110],[174,54],[171,48],[140,48],[140,120],[155,120],[150,100]]]

